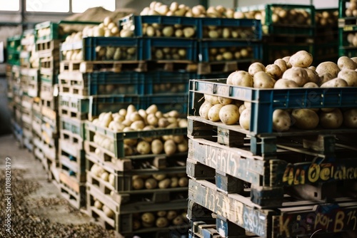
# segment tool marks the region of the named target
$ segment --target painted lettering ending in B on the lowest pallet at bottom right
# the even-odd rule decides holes
[[[273,227],[275,232],[283,237],[308,235],[320,229],[323,232],[353,230],[357,227],[357,207],[341,208],[332,205],[318,207],[311,212],[284,213]]]

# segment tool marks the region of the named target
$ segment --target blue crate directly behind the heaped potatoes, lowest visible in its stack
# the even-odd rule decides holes
[[[176,93],[174,95],[146,95],[140,98],[139,108],[149,108],[156,104],[162,113],[177,110],[181,115],[187,115],[188,93]]]

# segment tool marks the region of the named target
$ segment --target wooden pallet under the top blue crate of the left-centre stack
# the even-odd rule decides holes
[[[119,73],[121,71],[147,71],[145,61],[61,61],[59,72],[92,73],[106,71]]]

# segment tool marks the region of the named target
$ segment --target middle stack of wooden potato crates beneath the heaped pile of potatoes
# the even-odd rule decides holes
[[[116,133],[87,121],[85,130],[89,214],[119,237],[184,237],[187,152],[129,155],[128,148],[136,148],[141,140],[182,137],[187,128]]]

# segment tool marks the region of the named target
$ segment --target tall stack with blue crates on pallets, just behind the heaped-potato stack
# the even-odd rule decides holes
[[[98,50],[102,48],[104,55]],[[116,58],[131,48],[131,60]],[[109,51],[113,51],[110,53]],[[63,195],[75,206],[86,206],[84,121],[130,104],[139,106],[139,73],[123,71],[139,65],[137,41],[119,37],[85,37],[61,43],[59,73],[59,167]],[[72,57],[76,55],[76,57]],[[115,56],[114,56],[115,55]],[[110,56],[110,57],[109,57]]]

